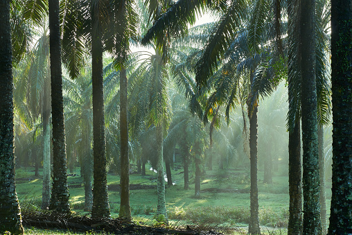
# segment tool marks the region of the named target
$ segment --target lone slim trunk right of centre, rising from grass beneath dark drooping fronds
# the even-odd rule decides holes
[[[251,71],[251,85],[254,79],[254,74]],[[259,227],[259,204],[258,204],[258,107],[254,107],[252,115],[249,116],[249,151],[250,151],[250,162],[251,162],[251,218],[249,220],[249,234],[261,234],[261,227]]]

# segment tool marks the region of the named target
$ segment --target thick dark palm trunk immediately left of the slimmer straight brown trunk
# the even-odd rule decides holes
[[[93,89],[93,159],[94,189],[92,218],[109,218],[109,195],[105,155],[105,122],[103,96],[103,36],[100,25],[99,0],[93,1],[91,29],[91,80]]]

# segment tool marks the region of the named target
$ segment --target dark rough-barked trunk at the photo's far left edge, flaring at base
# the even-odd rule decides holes
[[[0,234],[23,234],[15,187],[13,152],[12,51],[10,1],[0,1]]]

